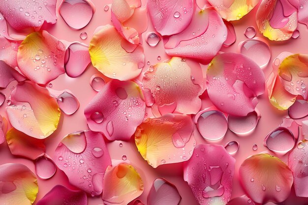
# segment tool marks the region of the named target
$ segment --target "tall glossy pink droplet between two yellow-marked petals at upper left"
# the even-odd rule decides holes
[[[91,63],[89,47],[81,43],[72,43],[66,50],[65,72],[69,77],[80,76]]]

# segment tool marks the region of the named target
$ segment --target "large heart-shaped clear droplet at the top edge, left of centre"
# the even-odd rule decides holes
[[[62,0],[58,11],[70,28],[78,30],[89,24],[95,6],[91,0]]]

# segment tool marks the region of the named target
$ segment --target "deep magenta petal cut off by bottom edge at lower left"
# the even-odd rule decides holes
[[[36,205],[87,205],[87,201],[85,192],[56,185]]]

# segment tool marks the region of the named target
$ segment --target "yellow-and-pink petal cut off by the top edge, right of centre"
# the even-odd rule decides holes
[[[239,20],[251,11],[259,0],[208,0],[227,21]]]

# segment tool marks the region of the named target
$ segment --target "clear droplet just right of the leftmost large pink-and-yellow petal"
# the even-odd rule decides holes
[[[59,97],[57,98],[57,103],[60,109],[66,115],[74,114],[79,108],[79,102],[77,98],[66,91],[64,91]]]

